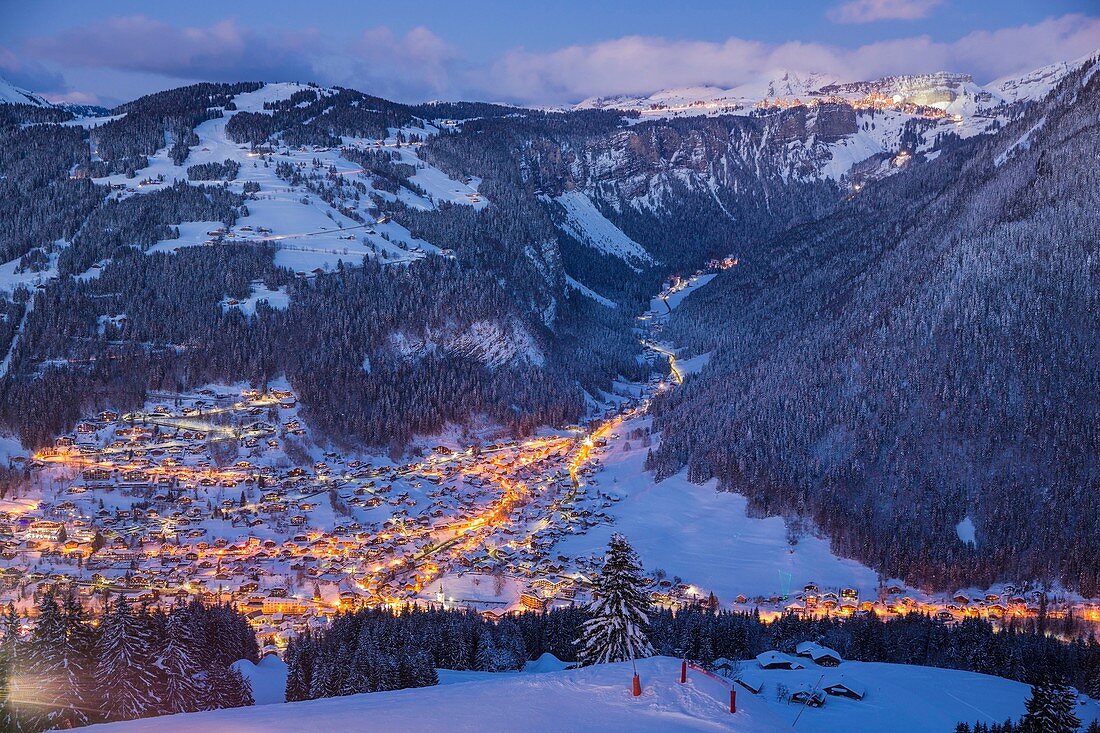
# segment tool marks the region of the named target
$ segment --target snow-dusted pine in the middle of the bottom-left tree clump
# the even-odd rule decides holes
[[[103,714],[132,720],[156,710],[155,671],[143,620],[119,598],[103,615],[96,647],[96,676],[105,685]]]

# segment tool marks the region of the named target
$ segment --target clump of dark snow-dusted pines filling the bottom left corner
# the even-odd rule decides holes
[[[119,597],[91,614],[72,593],[47,592],[33,623],[11,605],[0,617],[0,730],[250,705],[239,659],[256,661],[258,646],[229,606],[194,601],[164,612]]]

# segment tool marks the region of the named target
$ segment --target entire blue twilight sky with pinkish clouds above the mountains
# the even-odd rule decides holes
[[[197,80],[521,103],[787,69],[982,83],[1097,48],[1098,0],[0,0],[0,76],[107,105]]]

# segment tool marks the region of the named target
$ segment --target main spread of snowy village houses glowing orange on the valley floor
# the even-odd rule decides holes
[[[499,613],[546,608],[583,597],[598,566],[554,546],[618,499],[593,478],[615,422],[374,464],[307,449],[288,390],[155,398],[13,459],[28,485],[0,503],[0,600],[231,603],[276,647],[341,611],[431,602],[449,573],[514,579]]]

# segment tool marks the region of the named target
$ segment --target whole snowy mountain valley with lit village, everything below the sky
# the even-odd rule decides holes
[[[0,727],[1100,725],[1098,70],[0,84]]]

